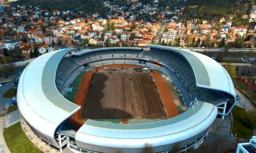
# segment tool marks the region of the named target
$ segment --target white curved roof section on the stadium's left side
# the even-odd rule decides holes
[[[41,55],[20,76],[17,102],[23,118],[51,137],[60,123],[80,109],[80,106],[63,98],[55,86],[57,65],[63,55],[70,51],[67,49]],[[48,64],[51,66],[45,66]]]

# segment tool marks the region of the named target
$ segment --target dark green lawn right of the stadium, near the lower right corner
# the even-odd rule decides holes
[[[251,127],[247,126],[247,121],[249,120],[247,112],[244,109],[235,106],[234,109],[232,110],[232,115],[233,135],[235,137],[250,139],[251,136],[253,135],[253,130],[251,129]]]

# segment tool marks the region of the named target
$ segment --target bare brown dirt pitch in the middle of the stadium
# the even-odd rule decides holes
[[[150,73],[94,73],[83,119],[164,119],[164,105]]]

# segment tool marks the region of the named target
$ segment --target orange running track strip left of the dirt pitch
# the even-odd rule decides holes
[[[83,110],[86,94],[88,88],[92,81],[93,72],[86,72],[84,77],[81,80],[81,83],[78,87],[77,94],[74,98],[74,103],[81,106],[81,109],[78,112],[75,112],[73,116],[70,117],[69,121],[74,126],[74,129],[78,130],[84,123],[84,119],[81,118],[81,110]]]

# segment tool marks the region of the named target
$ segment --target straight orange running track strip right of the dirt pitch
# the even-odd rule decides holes
[[[179,112],[177,106],[175,105],[175,102],[171,98],[171,94],[169,93],[168,88],[164,84],[163,77],[156,70],[153,70],[152,74],[154,80],[156,81],[158,90],[160,92],[160,98],[164,102],[164,106],[167,109],[168,118],[178,116]]]

